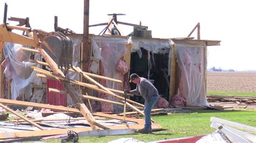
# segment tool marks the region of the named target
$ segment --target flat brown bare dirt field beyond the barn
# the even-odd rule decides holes
[[[207,90],[256,92],[256,73],[208,72]]]

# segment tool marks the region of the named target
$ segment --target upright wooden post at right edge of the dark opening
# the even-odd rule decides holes
[[[170,91],[169,91],[169,103],[172,100],[172,97],[176,94],[176,45],[173,45],[172,48],[172,61],[171,61],[171,76],[170,76]]]

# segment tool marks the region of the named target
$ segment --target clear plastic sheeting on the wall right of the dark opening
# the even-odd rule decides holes
[[[187,105],[208,106],[205,89],[205,41],[173,40],[178,61],[179,90]]]

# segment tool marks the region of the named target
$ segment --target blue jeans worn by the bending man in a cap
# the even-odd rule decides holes
[[[148,131],[151,131],[151,109],[153,108],[154,104],[156,104],[158,101],[158,96],[151,97],[151,103],[148,103],[147,100],[145,100],[145,108],[144,108],[144,114],[145,114],[145,126],[144,128]]]

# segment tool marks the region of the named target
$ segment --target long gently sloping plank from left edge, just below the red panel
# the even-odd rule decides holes
[[[7,105],[32,106],[35,108],[45,108],[45,109],[52,109],[56,111],[69,111],[69,112],[80,113],[80,111],[75,108],[67,108],[64,106],[56,106],[56,105],[25,102],[25,101],[15,101],[10,99],[0,99],[0,103],[7,104]]]

